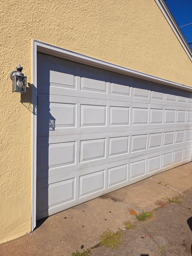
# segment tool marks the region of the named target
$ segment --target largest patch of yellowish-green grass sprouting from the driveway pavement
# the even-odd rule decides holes
[[[100,246],[105,245],[106,247],[109,247],[112,250],[114,248],[118,249],[119,245],[123,242],[122,236],[123,236],[123,232],[121,230],[114,233],[111,230],[107,229],[100,236]]]

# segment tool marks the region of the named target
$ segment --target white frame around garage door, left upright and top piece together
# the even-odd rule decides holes
[[[113,71],[119,74],[125,74],[131,77],[140,78],[143,80],[160,83],[161,85],[172,86],[182,90],[192,92],[192,87],[185,86],[179,83],[174,83],[159,77],[125,68],[119,65],[85,56],[80,53],[69,51],[54,45],[33,39],[33,118],[32,118],[32,231],[36,226],[36,163],[37,163],[37,52],[46,53],[52,56],[57,56],[63,59],[79,62],[82,64],[94,66],[97,68]]]

